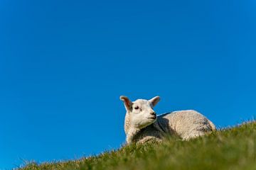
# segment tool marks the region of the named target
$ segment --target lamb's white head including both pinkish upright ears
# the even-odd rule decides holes
[[[124,123],[125,132],[131,127],[145,128],[156,121],[156,113],[153,108],[159,102],[159,96],[151,98],[149,101],[138,99],[132,102],[126,96],[120,96],[120,99],[124,101],[124,106],[127,110]]]

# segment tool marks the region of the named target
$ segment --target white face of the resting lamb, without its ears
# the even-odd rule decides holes
[[[146,100],[138,99],[132,103],[132,111],[129,112],[131,123],[136,128],[145,128],[156,121],[156,113],[153,105]]]

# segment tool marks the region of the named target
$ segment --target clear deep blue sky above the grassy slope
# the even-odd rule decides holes
[[[120,95],[256,115],[255,1],[0,1],[0,169],[118,148]]]

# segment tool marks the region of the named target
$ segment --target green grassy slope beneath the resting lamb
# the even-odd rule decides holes
[[[190,141],[170,138],[75,161],[31,163],[21,169],[256,169],[256,123],[218,130]]]

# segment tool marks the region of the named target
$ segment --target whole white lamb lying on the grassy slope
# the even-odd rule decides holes
[[[124,102],[127,111],[124,120],[127,145],[161,142],[166,135],[178,135],[182,140],[189,140],[216,130],[208,118],[193,110],[174,111],[156,116],[153,108],[159,102],[159,96],[149,101],[137,99],[134,102],[126,96],[120,96],[120,100]]]

